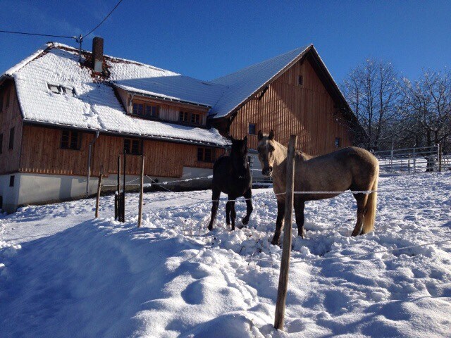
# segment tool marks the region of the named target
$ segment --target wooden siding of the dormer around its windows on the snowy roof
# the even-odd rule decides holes
[[[128,94],[127,91],[121,88],[116,88],[116,92],[118,93],[119,98],[122,101],[123,106],[125,107],[126,111],[128,113],[131,113],[130,109],[130,99],[131,95]],[[207,108],[194,106],[190,104],[180,104],[177,102],[171,102],[171,104],[168,104],[167,101],[160,101],[156,99],[150,99],[146,96],[140,96],[135,95],[133,96],[133,102],[138,104],[145,104],[145,103],[152,103],[156,104],[160,107],[159,110],[159,119],[163,121],[173,121],[178,122],[178,114],[180,111],[190,111],[192,113],[198,113],[200,114],[201,120],[200,125],[206,124],[206,115],[208,112]]]

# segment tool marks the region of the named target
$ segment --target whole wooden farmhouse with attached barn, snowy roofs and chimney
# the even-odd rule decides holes
[[[282,143],[296,133],[298,148],[317,155],[360,132],[313,45],[207,82],[105,56],[103,44],[48,43],[1,75],[4,211],[94,194],[101,172],[114,184],[124,151],[128,180],[142,154],[150,179],[180,180],[211,175],[230,134],[249,135],[252,152],[259,130]]]

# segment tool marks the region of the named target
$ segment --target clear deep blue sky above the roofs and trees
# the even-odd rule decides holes
[[[0,30],[86,34],[117,0],[0,1]],[[451,1],[123,0],[94,33],[105,53],[210,80],[313,43],[337,82],[368,57],[414,79],[451,60]],[[83,48],[91,49],[92,37]],[[0,33],[0,72],[49,40]]]

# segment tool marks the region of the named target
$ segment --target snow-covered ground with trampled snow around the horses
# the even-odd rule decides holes
[[[235,232],[224,203],[206,232],[209,191],[146,194],[141,229],[137,194],[125,224],[112,196],[98,219],[94,199],[0,216],[0,337],[451,337],[451,174],[384,176],[379,189],[376,229],[357,238],[352,195],[307,203],[285,332],[273,330],[271,189],[254,190]]]

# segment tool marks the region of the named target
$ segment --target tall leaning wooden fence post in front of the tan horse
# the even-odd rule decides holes
[[[274,327],[283,330],[285,316],[285,300],[288,289],[288,269],[290,268],[291,226],[293,213],[293,197],[295,191],[295,146],[296,135],[290,135],[287,156],[287,189],[285,194],[285,227],[283,229],[282,261],[280,262],[279,286],[277,289],[276,318]]]

